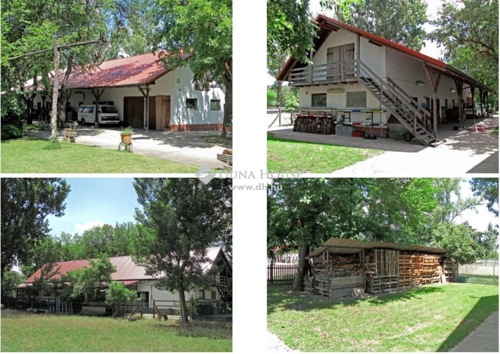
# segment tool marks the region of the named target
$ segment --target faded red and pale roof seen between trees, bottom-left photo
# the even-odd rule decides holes
[[[223,257],[224,261],[230,267],[230,263],[225,257],[224,251],[221,247],[209,247],[206,248],[206,257],[209,259],[206,263],[202,265],[204,271],[208,271],[213,266],[214,261],[217,259],[219,254]],[[94,259],[96,260],[96,259]],[[146,270],[143,266],[135,264],[129,255],[123,255],[118,257],[109,257],[109,261],[112,265],[116,267],[116,271],[111,274],[111,279],[113,280],[151,280],[158,279],[160,276],[146,275]],[[60,279],[61,275],[67,274],[68,271],[81,269],[83,267],[89,267],[90,262],[88,260],[69,260],[63,262],[55,263],[52,270],[59,267],[59,271],[52,278]],[[232,272],[232,269],[231,269]],[[41,274],[41,268],[37,269],[33,274],[31,274],[23,284],[32,283],[36,278],[39,278]],[[22,284],[21,284],[22,285]],[[25,286],[25,285],[24,285]],[[22,287],[22,286],[20,286]]]

